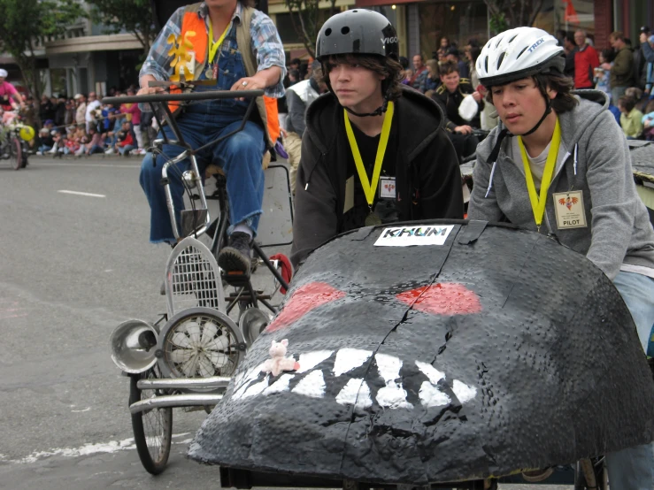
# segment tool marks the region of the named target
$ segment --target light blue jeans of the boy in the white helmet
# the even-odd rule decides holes
[[[638,331],[642,348],[647,348],[654,325],[654,279],[633,272],[619,272],[613,279]],[[654,443],[622,449],[606,455],[611,490],[654,488]]]

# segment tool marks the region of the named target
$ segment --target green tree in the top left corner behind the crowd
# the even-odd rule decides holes
[[[0,52],[13,57],[36,100],[42,90],[36,68],[37,42],[63,35],[66,26],[85,15],[75,0],[0,0]]]

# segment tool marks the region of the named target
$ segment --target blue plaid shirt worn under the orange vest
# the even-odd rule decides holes
[[[242,4],[238,2],[232,20],[237,19],[241,22],[242,17]],[[208,19],[208,8],[204,2],[200,5],[197,11],[198,15],[203,19]],[[143,75],[152,75],[157,80],[168,80],[168,77],[173,73],[170,63],[173,57],[168,56],[170,45],[168,44],[168,36],[174,34],[178,36],[181,34],[181,23],[184,17],[184,7],[181,7],[173,13],[165,27],[161,30],[157,39],[150,48],[148,58],[145,60],[139,73],[139,78]],[[234,28],[234,26],[232,27]],[[208,33],[207,29],[207,33]],[[209,35],[209,34],[207,34]],[[250,23],[250,38],[252,40],[252,50],[257,57],[257,70],[265,70],[272,66],[279,66],[281,68],[280,80],[276,85],[265,88],[265,95],[269,97],[279,98],[284,96],[284,86],[282,80],[286,76],[286,57],[284,55],[284,46],[281,43],[280,35],[277,33],[277,28],[274,26],[273,21],[265,15],[264,12],[255,10],[252,12],[252,21]],[[207,48],[208,49],[208,48]],[[220,46],[223,56],[229,55],[229,43],[223,42]]]

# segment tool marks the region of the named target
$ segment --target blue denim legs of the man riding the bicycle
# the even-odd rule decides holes
[[[184,140],[191,147],[199,148],[212,142],[222,134],[228,134],[241,125],[242,108],[220,101],[220,104],[199,103],[189,106],[189,110],[177,119]],[[217,110],[219,106],[219,110]],[[220,113],[216,113],[220,112]],[[166,136],[175,139],[170,126],[164,126]],[[162,137],[159,135],[159,137]],[[168,158],[181,153],[181,147],[164,145],[163,152]],[[239,223],[246,223],[256,233],[264,200],[264,171],[261,160],[265,151],[264,131],[261,126],[248,121],[242,131],[233,134],[197,155],[200,174],[209,164],[218,165],[227,175],[227,197],[229,200],[229,222],[231,230]],[[143,158],[139,181],[150,203],[150,242],[173,243],[173,226],[165,203],[164,187],[161,185],[161,168],[166,158],[158,155],[153,161],[151,153]],[[180,223],[180,211],[184,209],[181,173],[188,170],[190,160],[182,160],[174,167],[168,167],[171,194]]]

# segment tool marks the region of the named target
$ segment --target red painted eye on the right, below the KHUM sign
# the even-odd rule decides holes
[[[416,287],[396,295],[396,298],[413,310],[432,315],[470,315],[481,312],[479,296],[463,284],[438,283]]]

